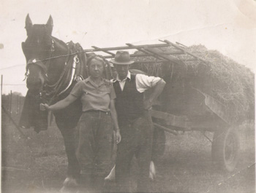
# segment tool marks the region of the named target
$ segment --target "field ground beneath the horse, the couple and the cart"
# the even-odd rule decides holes
[[[23,130],[24,139],[8,119],[2,122],[1,192],[59,192],[67,158],[56,125],[39,134]],[[255,127],[239,128],[241,156],[233,173],[211,165],[211,142],[199,132],[166,133],[165,154],[156,163],[152,192],[255,192]],[[212,133],[206,133],[212,138]],[[132,188],[138,165],[132,166]]]

